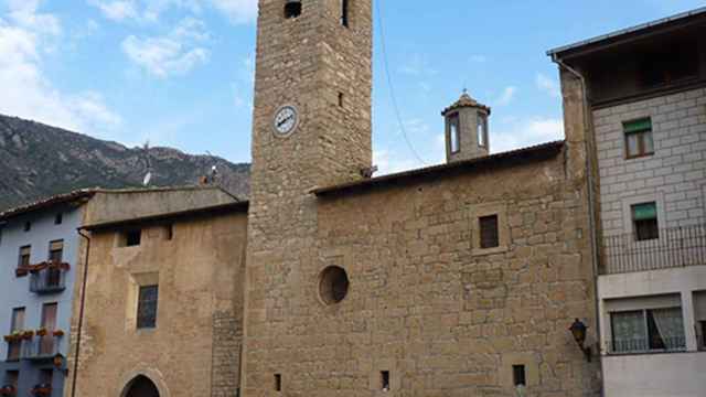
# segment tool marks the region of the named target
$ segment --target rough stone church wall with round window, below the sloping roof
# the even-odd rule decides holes
[[[267,337],[248,346],[264,387],[247,396],[278,395],[274,374],[286,396],[375,396],[384,371],[394,396],[514,396],[513,365],[527,395],[597,395],[598,364],[567,330],[596,324],[585,203],[563,155],[320,198],[311,260],[250,273]],[[473,224],[489,210],[509,235],[483,251]],[[351,282],[333,305],[319,297],[329,266]]]

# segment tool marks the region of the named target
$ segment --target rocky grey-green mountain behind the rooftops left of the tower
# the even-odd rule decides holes
[[[151,163],[152,186],[197,184],[213,165],[218,183],[249,192],[249,164],[171,148],[127,148],[43,124],[0,115],[0,211],[83,187],[141,186]]]

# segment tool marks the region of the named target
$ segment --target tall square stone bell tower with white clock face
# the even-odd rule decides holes
[[[315,322],[302,319],[321,271],[310,191],[361,179],[372,165],[372,0],[259,0],[256,62],[242,361],[248,397],[291,387],[297,345],[287,341]]]

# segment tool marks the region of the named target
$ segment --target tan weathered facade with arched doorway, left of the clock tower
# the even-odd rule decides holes
[[[88,226],[79,365],[74,372],[79,299],[74,304],[68,364],[76,396],[125,396],[138,377],[149,378],[162,397],[233,396],[243,344],[246,212],[214,210],[125,221]],[[141,230],[139,245],[122,246],[121,236],[135,229]],[[77,271],[83,275],[83,262]],[[78,285],[82,281],[83,277]],[[157,325],[141,329],[139,288],[154,285]],[[75,296],[82,296],[81,288]],[[69,396],[72,388],[65,391]]]

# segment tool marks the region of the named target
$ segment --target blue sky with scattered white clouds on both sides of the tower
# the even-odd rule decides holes
[[[374,162],[442,162],[440,111],[463,88],[492,107],[493,152],[561,139],[547,50],[704,6],[377,0]],[[248,162],[256,17],[257,0],[0,0],[0,114]]]

